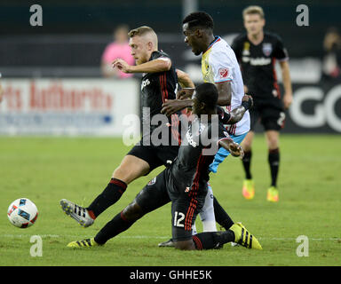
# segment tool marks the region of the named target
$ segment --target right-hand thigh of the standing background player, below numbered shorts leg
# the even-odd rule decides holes
[[[279,146],[279,135],[284,121],[285,114],[280,107],[268,106],[263,109],[261,123],[266,130],[266,142],[270,150]]]

